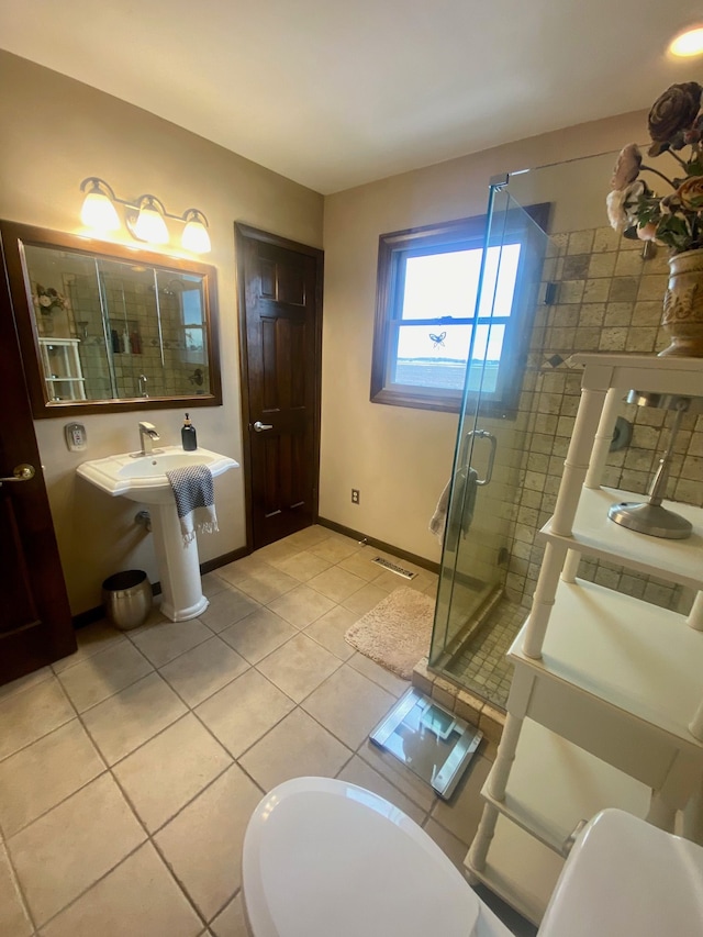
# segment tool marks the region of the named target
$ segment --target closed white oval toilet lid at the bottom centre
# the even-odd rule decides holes
[[[256,937],[469,937],[479,900],[439,847],[356,784],[295,778],[255,810],[243,895]]]

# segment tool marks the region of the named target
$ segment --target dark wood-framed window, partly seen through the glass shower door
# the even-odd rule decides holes
[[[527,210],[538,223],[548,205]],[[469,393],[487,412],[514,411],[539,280],[542,243],[522,210],[504,212],[486,249],[486,216],[382,234],[371,400],[458,411],[467,359]]]

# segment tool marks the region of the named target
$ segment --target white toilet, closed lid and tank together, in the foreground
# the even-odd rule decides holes
[[[327,778],[286,781],[259,803],[242,894],[253,937],[511,937],[417,824]],[[703,848],[603,811],[571,850],[539,937],[669,934],[703,934]]]

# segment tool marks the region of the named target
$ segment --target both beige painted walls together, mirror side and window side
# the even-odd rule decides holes
[[[121,196],[152,191],[171,211],[194,204],[207,213],[208,259],[219,276],[224,404],[193,412],[202,446],[241,461],[233,223],[324,246],[321,515],[437,560],[427,523],[450,472],[457,416],[369,402],[378,236],[482,213],[495,172],[616,149],[643,137],[645,115],[534,137],[323,200],[145,111],[1,52],[0,81],[12,89],[0,99],[0,216],[80,233],[78,186],[90,175]],[[133,524],[136,506],[109,500],[75,476],[85,458],[136,448],[140,419],[152,420],[166,444],[179,442],[181,408],[88,416],[85,454],[66,449],[68,420],[36,423],[74,613],[96,605],[102,579],[118,569],[134,566],[156,577],[150,538]],[[360,489],[359,506],[350,503],[352,488]],[[221,533],[201,538],[203,560],[245,543],[242,472],[220,478],[216,495]]]

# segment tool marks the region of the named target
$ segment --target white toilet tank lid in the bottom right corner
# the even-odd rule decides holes
[[[624,811],[601,811],[561,871],[539,937],[699,937],[703,848]]]

